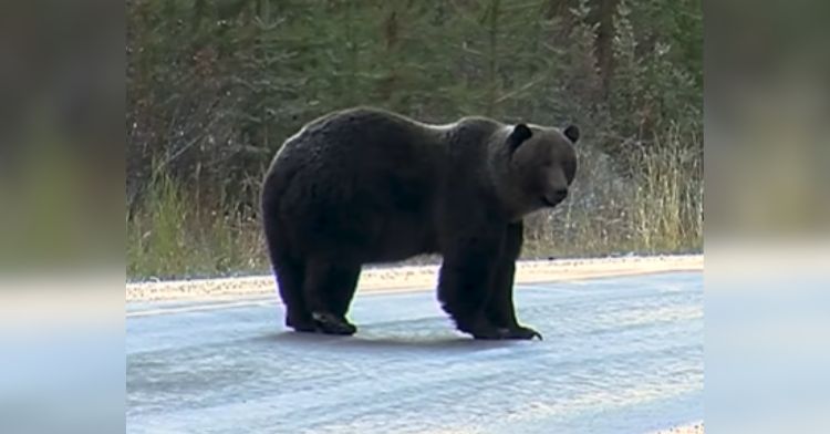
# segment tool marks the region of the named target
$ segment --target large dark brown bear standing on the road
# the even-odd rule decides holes
[[[262,226],[286,326],[351,335],[364,265],[442,257],[437,298],[474,339],[542,339],[512,299],[522,218],[568,196],[580,131],[481,116],[434,125],[359,106],[319,117],[277,152]]]

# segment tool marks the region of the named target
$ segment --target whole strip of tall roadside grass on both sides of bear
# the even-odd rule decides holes
[[[701,156],[683,146],[688,138],[675,128],[640,148],[639,170],[630,177],[616,175],[604,154],[582,147],[571,197],[526,220],[525,257],[699,251],[703,168]],[[268,272],[258,217],[240,215],[236,205],[221,199],[206,208],[169,176],[156,176],[127,215],[127,276]]]

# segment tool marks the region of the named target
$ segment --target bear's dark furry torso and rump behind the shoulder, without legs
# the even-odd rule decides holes
[[[309,248],[347,248],[371,260],[434,251],[449,130],[372,108],[318,118],[276,156],[269,196]]]

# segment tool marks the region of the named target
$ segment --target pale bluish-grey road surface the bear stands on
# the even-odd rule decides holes
[[[359,294],[352,338],[276,296],[127,306],[128,433],[643,433],[703,420],[703,275],[519,286],[544,341],[454,332],[432,291]]]

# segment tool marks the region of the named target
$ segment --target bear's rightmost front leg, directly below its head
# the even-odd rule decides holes
[[[520,326],[516,319],[513,307],[513,277],[516,260],[521,254],[523,241],[523,226],[521,221],[507,227],[505,242],[494,267],[490,280],[490,298],[487,300],[487,317],[498,329],[502,339],[542,339],[542,335],[529,328]]]

